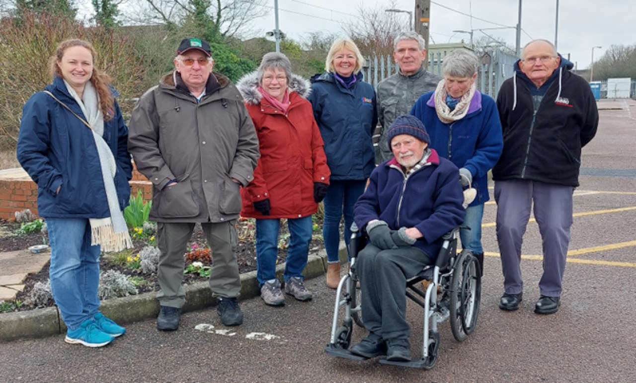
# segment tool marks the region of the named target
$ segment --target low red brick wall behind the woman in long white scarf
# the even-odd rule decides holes
[[[152,184],[137,169],[133,169],[130,194],[137,195],[137,190],[141,190],[144,200],[152,199]],[[13,221],[14,212],[24,209],[31,209],[33,214],[38,215],[37,199],[38,185],[31,181],[24,170],[0,171],[0,218]]]

